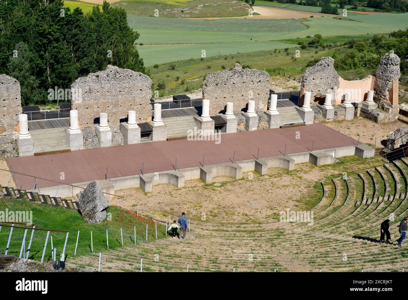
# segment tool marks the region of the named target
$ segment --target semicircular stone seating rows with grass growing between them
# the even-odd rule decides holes
[[[408,215],[408,160],[322,182],[311,222],[211,224],[191,221],[186,240],[167,238],[102,254],[103,271],[401,271],[408,240],[397,247],[397,224]],[[160,215],[159,215],[160,216]],[[379,243],[390,219],[391,244]],[[158,221],[166,221],[158,220]],[[98,267],[98,255],[67,259]]]

